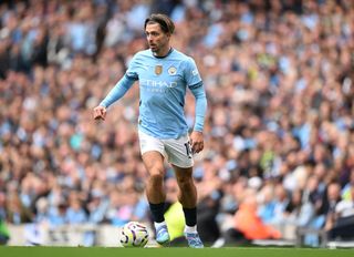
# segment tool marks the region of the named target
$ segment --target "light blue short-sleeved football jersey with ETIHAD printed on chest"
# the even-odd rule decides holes
[[[188,132],[186,90],[202,86],[190,56],[175,49],[164,58],[140,51],[132,59],[126,76],[139,81],[139,130],[158,138],[178,138]]]

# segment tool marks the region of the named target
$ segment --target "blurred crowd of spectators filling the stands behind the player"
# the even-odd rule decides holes
[[[173,18],[173,45],[196,60],[207,91],[194,173],[201,238],[292,239],[304,227],[353,237],[343,229],[354,224],[351,0],[1,1],[0,220],[149,220],[138,86],[104,122],[92,109],[147,48],[152,12]],[[192,127],[189,93],[187,103]]]

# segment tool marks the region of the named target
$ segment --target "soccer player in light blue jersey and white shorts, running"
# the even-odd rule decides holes
[[[165,14],[152,14],[145,20],[148,50],[137,52],[125,75],[94,109],[94,119],[104,120],[106,109],[119,100],[139,81],[138,136],[142,158],[148,171],[146,195],[156,228],[156,241],[169,244],[164,218],[164,160],[173,166],[179,186],[189,247],[204,247],[197,232],[197,189],[192,181],[192,154],[204,148],[206,93],[195,61],[170,45],[174,22]],[[196,99],[192,132],[184,115],[187,88]]]

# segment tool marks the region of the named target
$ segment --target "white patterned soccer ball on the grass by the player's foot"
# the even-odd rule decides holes
[[[123,247],[144,247],[148,241],[147,227],[137,222],[129,222],[122,227],[121,244]]]

